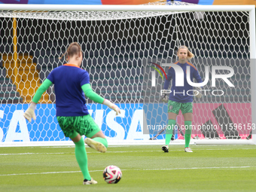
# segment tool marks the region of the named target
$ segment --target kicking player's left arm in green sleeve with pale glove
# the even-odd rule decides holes
[[[35,92],[35,96],[33,96],[32,102],[29,105],[29,108],[25,111],[23,116],[31,122],[32,118],[35,120],[35,108],[36,104],[38,103],[39,99],[41,98],[41,95],[50,87],[50,85],[53,84],[49,79],[46,79],[41,86],[38,88],[38,90]]]

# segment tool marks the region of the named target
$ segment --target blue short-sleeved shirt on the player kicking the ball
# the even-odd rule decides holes
[[[74,64],[65,64],[53,69],[48,75],[54,84],[56,95],[56,116],[84,116],[89,114],[85,105],[82,86],[90,84],[87,71]]]

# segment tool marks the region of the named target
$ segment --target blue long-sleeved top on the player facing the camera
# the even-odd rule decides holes
[[[199,72],[197,71],[197,68],[190,62],[185,62],[184,64],[181,64],[179,62],[175,62],[175,65],[180,66],[183,69],[184,72],[184,87],[176,87],[175,86],[175,70],[172,67],[169,67],[167,79],[164,82],[163,89],[168,90],[169,82],[172,80],[172,89],[171,93],[169,94],[169,100],[172,100],[174,102],[193,102],[193,96],[187,95],[193,95],[193,87],[187,83],[187,66],[190,66],[190,80],[193,82],[193,78],[197,80],[197,83],[202,83],[202,78],[199,75]],[[188,91],[187,90],[191,90]]]

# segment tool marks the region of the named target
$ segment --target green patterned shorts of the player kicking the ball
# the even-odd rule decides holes
[[[66,137],[72,136],[74,131],[76,131],[81,136],[84,135],[91,138],[100,131],[99,126],[95,123],[90,114],[77,117],[58,116],[57,120]]]

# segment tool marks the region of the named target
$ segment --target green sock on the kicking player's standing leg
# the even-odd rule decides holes
[[[84,179],[90,180],[90,173],[87,166],[87,152],[85,151],[83,138],[79,142],[75,142],[75,157],[84,175]]]

